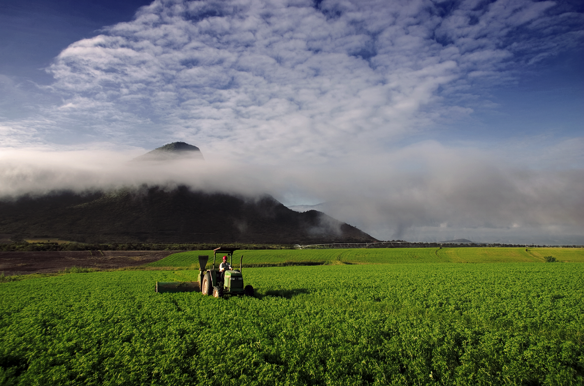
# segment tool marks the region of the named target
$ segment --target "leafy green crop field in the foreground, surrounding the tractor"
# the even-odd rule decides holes
[[[584,384],[583,264],[249,268],[256,297],[154,293],[197,273],[0,284],[0,384]]]

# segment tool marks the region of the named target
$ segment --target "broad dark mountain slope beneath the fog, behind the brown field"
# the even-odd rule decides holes
[[[298,213],[272,196],[208,194],[185,186],[0,201],[0,234],[91,243],[290,243],[377,241],[317,210]]]

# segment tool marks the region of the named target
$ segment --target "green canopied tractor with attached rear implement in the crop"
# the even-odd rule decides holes
[[[197,282],[156,282],[156,292],[197,292],[203,295],[213,295],[214,297],[223,297],[225,295],[246,295],[253,296],[253,287],[246,285],[244,287],[244,277],[241,274],[243,255],[239,259],[239,269],[226,270],[223,279],[219,266],[215,268],[217,254],[221,257],[226,256],[229,265],[233,266],[233,252],[237,248],[219,247],[213,250],[213,266],[206,269],[208,255],[199,255],[199,280]]]

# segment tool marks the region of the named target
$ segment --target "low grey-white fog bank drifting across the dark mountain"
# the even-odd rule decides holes
[[[197,145],[197,144],[195,144]],[[509,166],[493,152],[423,142],[384,155],[273,166],[226,160],[131,162],[131,152],[3,150],[0,195],[63,189],[186,184],[196,190],[271,194],[318,209],[380,240],[584,243],[584,172]]]

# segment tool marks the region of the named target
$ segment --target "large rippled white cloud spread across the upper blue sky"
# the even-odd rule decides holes
[[[157,0],[61,52],[50,90],[62,102],[41,111],[53,127],[35,129],[40,141],[184,140],[270,163],[362,151],[470,113],[467,94],[541,54],[533,37],[512,41],[522,28],[546,51],[568,44],[545,32],[568,17],[551,6]]]

